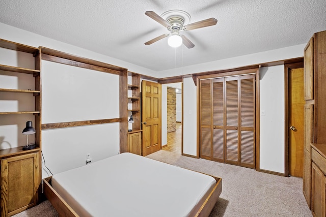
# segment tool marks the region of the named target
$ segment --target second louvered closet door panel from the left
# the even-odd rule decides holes
[[[224,78],[212,80],[213,144],[212,159],[224,160]]]

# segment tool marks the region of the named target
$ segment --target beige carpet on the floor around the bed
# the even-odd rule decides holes
[[[312,216],[302,193],[302,179],[180,156],[164,150],[149,158],[222,177],[222,194],[213,216]],[[14,216],[58,216],[48,201]]]

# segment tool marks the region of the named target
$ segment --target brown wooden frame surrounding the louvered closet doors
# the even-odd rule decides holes
[[[231,72],[216,72],[216,74],[209,74],[209,75],[202,75],[197,76],[197,158],[200,157],[200,80],[206,80],[206,79],[213,79],[213,78],[221,78],[221,77],[231,77],[231,76],[239,76],[239,75],[248,75],[248,74],[255,74],[255,100],[256,100],[256,107],[255,107],[255,168],[257,171],[260,171],[260,158],[259,158],[259,150],[260,150],[260,92],[259,92],[259,70],[260,68],[252,68],[252,69],[246,69],[246,70],[234,70]]]

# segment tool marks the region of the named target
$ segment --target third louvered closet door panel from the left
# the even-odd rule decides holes
[[[226,78],[226,162],[230,164],[238,164],[239,156],[239,92],[238,92],[239,77]]]

